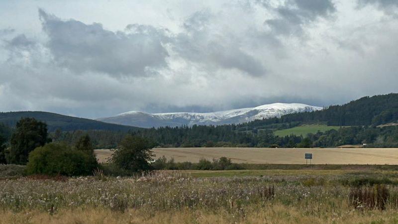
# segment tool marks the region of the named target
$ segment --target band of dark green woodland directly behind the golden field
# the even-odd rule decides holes
[[[293,125],[292,125],[293,126]],[[95,148],[116,148],[126,135],[138,135],[158,147],[335,147],[363,144],[372,147],[398,147],[398,126],[350,126],[306,136],[280,137],[273,129],[242,130],[238,125],[149,128],[139,131],[68,131],[49,134],[53,142],[75,144],[89,135]],[[310,140],[310,141],[309,141]]]

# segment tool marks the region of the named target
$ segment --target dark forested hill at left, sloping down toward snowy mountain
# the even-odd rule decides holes
[[[111,130],[128,131],[138,130],[139,127],[105,123],[98,120],[66,116],[51,112],[0,112],[0,123],[8,126],[15,126],[21,117],[33,117],[44,121],[48,125],[49,131],[61,129],[63,131],[71,130]]]

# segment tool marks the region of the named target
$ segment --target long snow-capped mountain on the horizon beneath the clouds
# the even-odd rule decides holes
[[[220,125],[243,123],[256,119],[280,117],[288,113],[319,111],[322,108],[305,104],[267,104],[255,108],[242,108],[220,112],[173,112],[145,113],[138,111],[124,112],[116,116],[99,118],[97,120],[137,127],[160,127],[181,125]]]

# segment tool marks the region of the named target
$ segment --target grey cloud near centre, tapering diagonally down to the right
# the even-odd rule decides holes
[[[217,33],[209,26],[212,14],[198,11],[184,22],[185,32],[174,40],[174,50],[190,61],[223,69],[237,69],[250,76],[263,76],[266,69],[260,60],[241,49],[237,39]]]

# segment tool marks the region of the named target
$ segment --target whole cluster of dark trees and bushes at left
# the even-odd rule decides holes
[[[137,135],[121,139],[109,169],[98,163],[88,134],[73,144],[53,142],[47,124],[29,117],[21,118],[12,131],[0,125],[0,131],[0,164],[26,165],[26,174],[80,176],[91,175],[96,169],[131,174],[151,169],[148,161],[153,157],[153,144]]]

